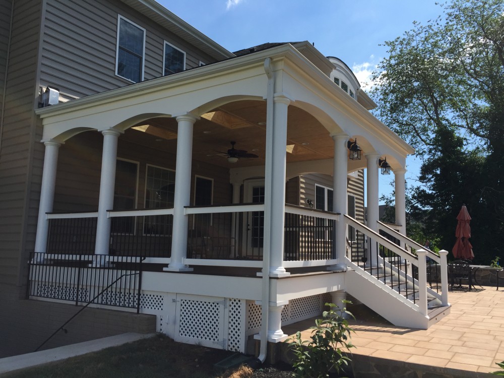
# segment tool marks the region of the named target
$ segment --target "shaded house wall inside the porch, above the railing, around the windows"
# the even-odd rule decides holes
[[[176,156],[166,149],[155,149],[136,144],[134,140],[138,133],[134,130],[127,130],[123,136],[119,137],[117,157],[139,163],[137,208],[143,209],[145,206],[147,164],[174,170]],[[103,136],[101,134],[85,132],[69,139],[65,145],[60,147],[54,212],[83,212],[98,209],[102,145]],[[214,204],[231,203],[229,171],[213,164],[194,161],[191,177],[191,204],[194,199],[195,175],[214,180]]]

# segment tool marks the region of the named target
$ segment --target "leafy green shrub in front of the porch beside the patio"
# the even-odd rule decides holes
[[[351,302],[344,300],[343,303]],[[351,361],[347,352],[354,348],[350,342],[353,330],[343,316],[348,314],[355,318],[346,307],[340,309],[334,303],[326,303],[326,306],[329,306],[329,311],[324,311],[324,319],[317,319],[315,326],[310,327],[311,340],[301,340],[301,332],[287,340],[294,353],[293,367],[298,377],[327,377],[329,371],[339,373]]]

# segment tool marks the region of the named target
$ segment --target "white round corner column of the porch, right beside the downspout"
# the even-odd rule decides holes
[[[286,172],[286,150],[287,145],[287,108],[290,100],[284,96],[276,96],[274,99],[273,111],[273,141],[272,155],[266,164],[271,167],[271,191],[265,191],[269,196],[269,212],[265,211],[265,218],[269,214],[269,221],[265,219],[265,224],[270,228],[270,276],[280,277],[288,275],[283,267],[284,252],[284,224],[285,224],[285,172]],[[268,178],[266,178],[268,179]],[[266,209],[265,209],[266,210]],[[267,246],[266,246],[267,247]],[[263,272],[264,274],[264,272]]]

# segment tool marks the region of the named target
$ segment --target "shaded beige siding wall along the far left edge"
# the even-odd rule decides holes
[[[21,283],[19,264],[26,258],[25,247],[33,243],[30,217],[36,219],[37,194],[31,193],[29,182],[32,167],[35,171],[38,166],[32,159],[41,2],[13,4],[0,150],[0,283],[7,284]]]

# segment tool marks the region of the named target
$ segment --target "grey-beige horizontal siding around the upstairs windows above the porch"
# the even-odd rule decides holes
[[[74,97],[132,84],[115,75],[118,15],[146,29],[144,80],[162,76],[164,40],[186,52],[186,69],[212,61],[118,0],[47,0],[40,84]]]

